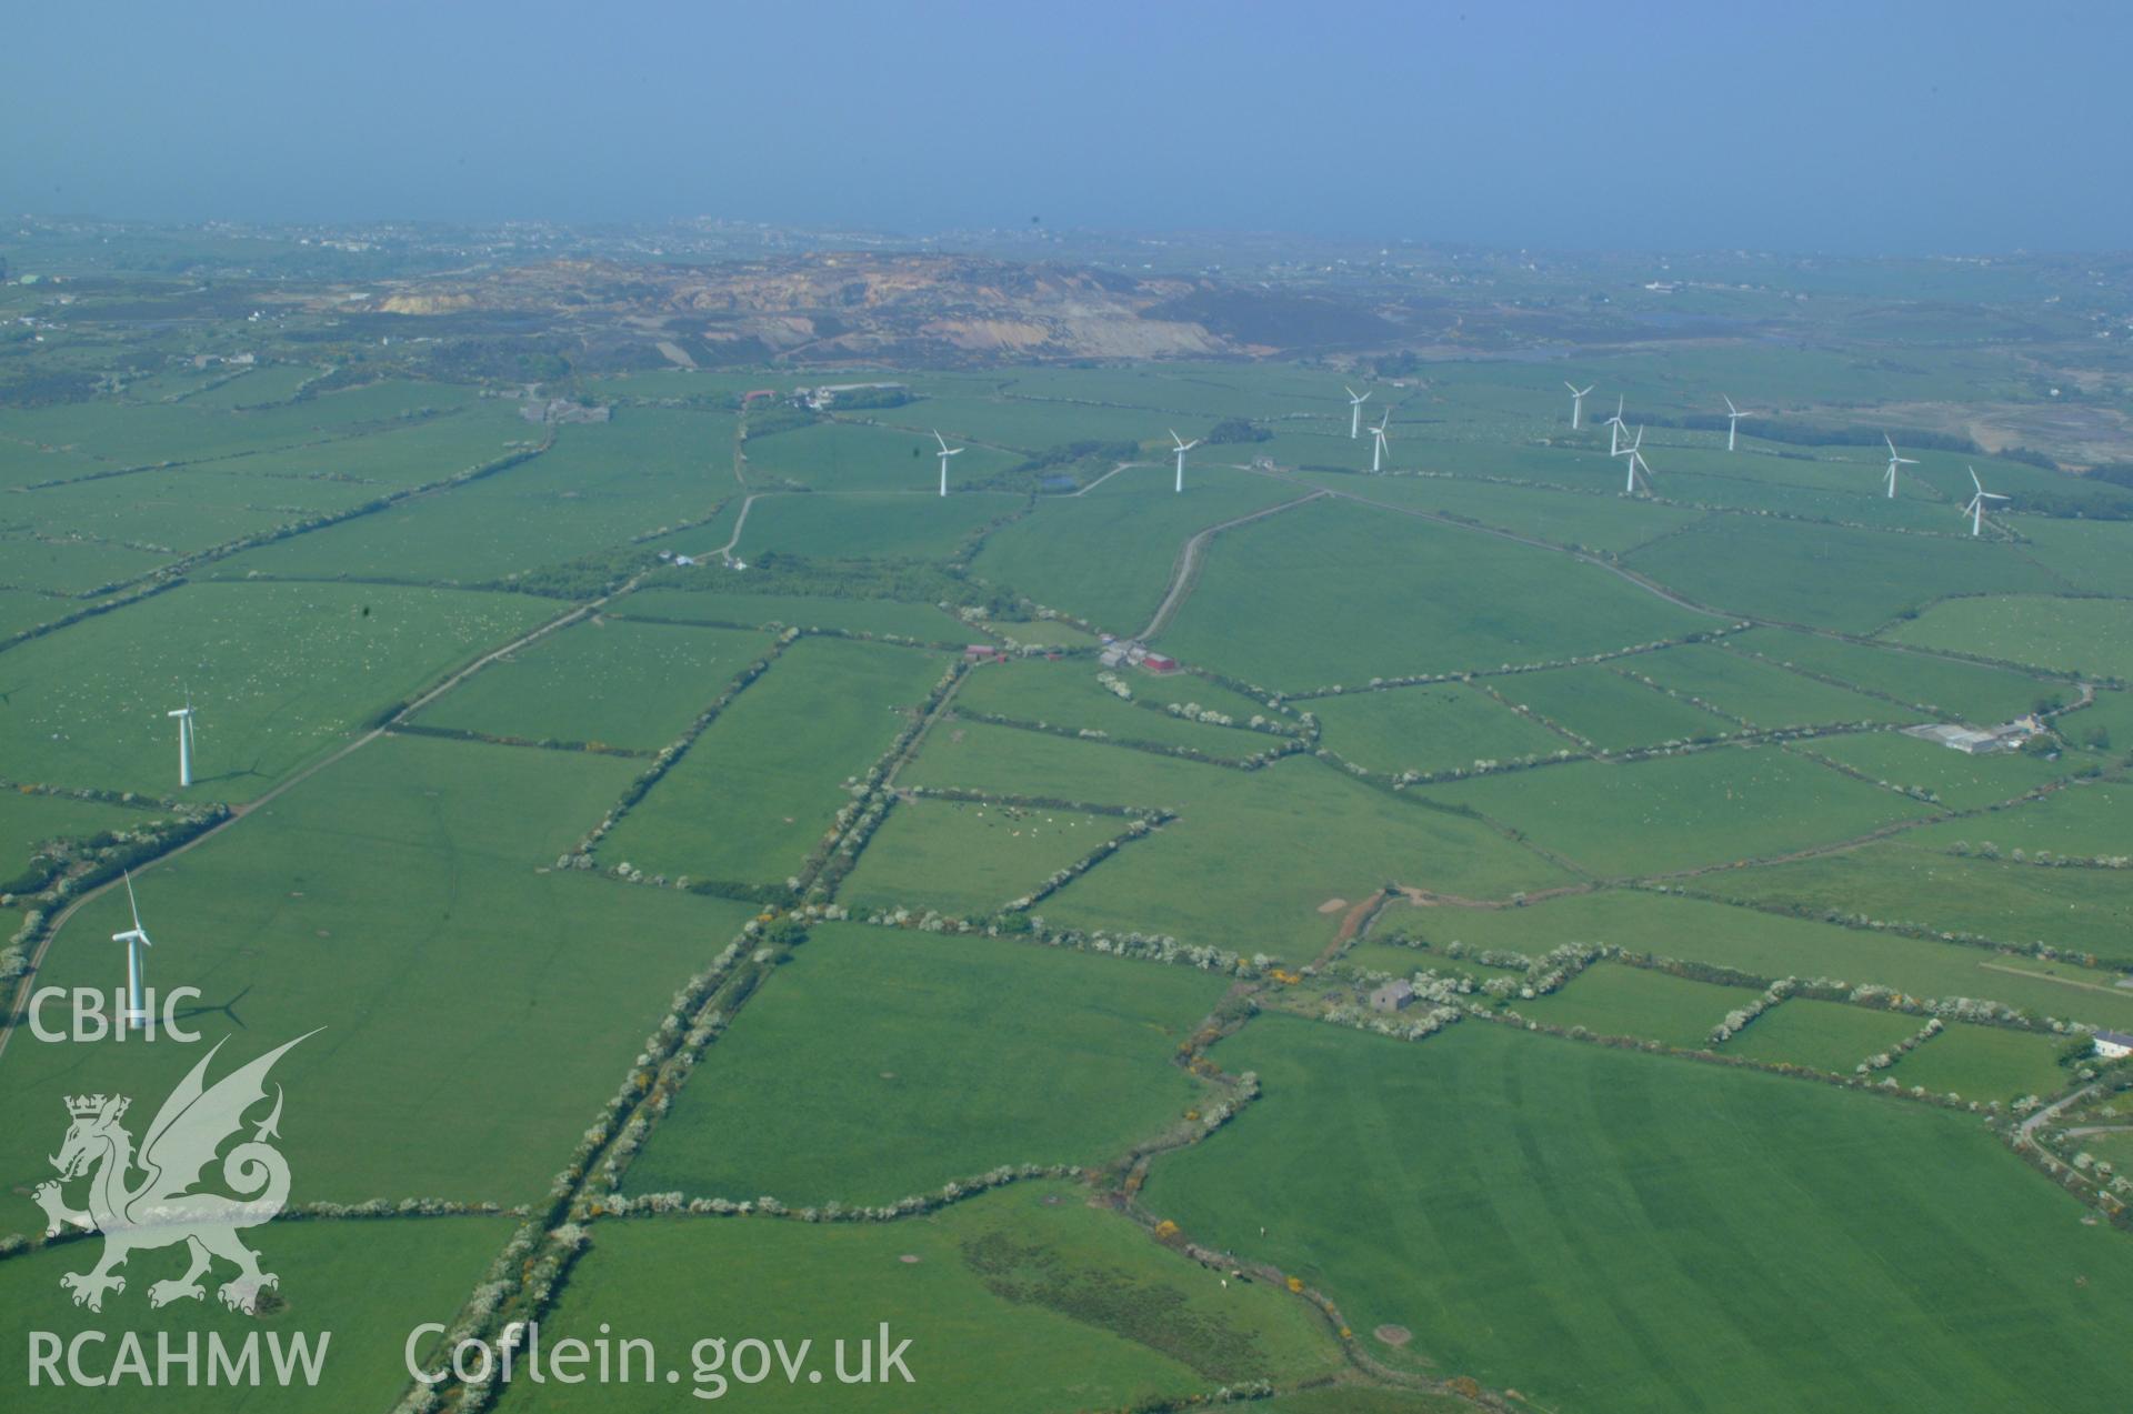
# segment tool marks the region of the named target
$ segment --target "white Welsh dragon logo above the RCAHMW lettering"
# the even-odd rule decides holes
[[[237,1275],[218,1290],[222,1303],[247,1316],[258,1312],[260,1292],[279,1286],[282,1280],[260,1271],[258,1252],[237,1241],[237,1233],[271,1220],[288,1201],[288,1160],[267,1143],[279,1139],[279,1086],[273,1092],[273,1111],[256,1124],[252,1139],[243,1139],[222,1156],[222,1182],[241,1196],[194,1192],[194,1186],[224,1141],[243,1130],[245,1111],[267,1100],[267,1071],[273,1062],[316,1034],[296,1037],[209,1088],[205,1077],[215,1051],[222,1049],[218,1041],[156,1111],[139,1154],[132,1135],[119,1124],[132,1100],[122,1094],[68,1096],[66,1111],[73,1124],[66,1143],[51,1160],[60,1177],[38,1184],[30,1196],[45,1209],[47,1237],[68,1226],[105,1237],[105,1260],[92,1271],[70,1271],[60,1278],[60,1286],[75,1295],[75,1305],[105,1309],[105,1292],[126,1290],[126,1278],[117,1275],[115,1267],[137,1250],[183,1243],[192,1267],[181,1278],[149,1286],[149,1305],[201,1301],[207,1295],[201,1278],[220,1256],[237,1265]],[[66,1205],[64,1186],[79,1177],[90,1182],[85,1209]]]

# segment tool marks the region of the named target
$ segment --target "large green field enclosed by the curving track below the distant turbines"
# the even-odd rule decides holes
[[[1162,648],[1290,691],[1717,627],[1551,550],[1352,503],[1226,531]]]

